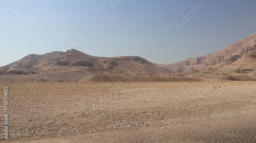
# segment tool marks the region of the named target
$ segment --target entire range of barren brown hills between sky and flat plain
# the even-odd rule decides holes
[[[98,81],[154,82],[177,77],[256,80],[255,63],[256,34],[252,34],[215,53],[167,65],[153,64],[139,56],[92,56],[76,49],[29,54],[0,67],[0,81],[97,81],[95,76],[108,76]]]

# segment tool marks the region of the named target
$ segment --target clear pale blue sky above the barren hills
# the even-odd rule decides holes
[[[124,0],[115,10],[109,0],[33,0],[24,8],[26,1],[1,1],[1,66],[31,53],[65,51],[80,34],[87,39],[75,49],[84,53],[139,55],[170,64],[219,51],[256,32],[255,0],[205,0],[180,32],[174,22],[181,23],[181,14],[202,0]],[[21,14],[12,18],[12,9]]]

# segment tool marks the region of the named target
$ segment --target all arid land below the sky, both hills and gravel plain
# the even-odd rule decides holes
[[[29,54],[0,67],[10,111],[0,141],[256,142],[255,48],[253,34],[163,68],[76,49]],[[4,131],[4,108],[1,120]]]

